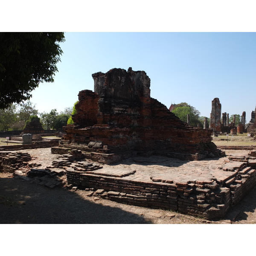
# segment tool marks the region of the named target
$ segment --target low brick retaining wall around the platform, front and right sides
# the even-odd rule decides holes
[[[67,182],[75,186],[104,189],[106,199],[142,207],[171,209],[207,219],[222,218],[232,205],[256,185],[256,166],[241,163],[226,180],[196,180],[194,183],[152,182],[125,177],[106,177],[67,169]],[[162,180],[163,181],[163,180]]]

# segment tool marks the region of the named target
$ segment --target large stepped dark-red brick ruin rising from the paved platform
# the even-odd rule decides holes
[[[183,160],[220,157],[212,130],[193,128],[165,105],[150,97],[150,79],[144,71],[114,68],[94,73],[94,92],[79,92],[73,125],[56,153],[79,149],[87,159],[115,163],[153,154]]]

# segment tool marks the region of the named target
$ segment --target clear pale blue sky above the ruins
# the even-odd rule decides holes
[[[31,102],[39,112],[63,111],[80,90],[93,90],[92,74],[112,68],[144,70],[151,97],[169,108],[187,102],[209,117],[219,98],[222,113],[255,109],[255,32],[66,32],[54,83],[40,84]]]

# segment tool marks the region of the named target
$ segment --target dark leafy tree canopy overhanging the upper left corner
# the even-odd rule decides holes
[[[64,32],[0,32],[0,109],[30,99],[58,72]]]

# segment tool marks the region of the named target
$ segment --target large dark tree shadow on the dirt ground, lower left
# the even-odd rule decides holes
[[[85,200],[66,189],[0,178],[0,224],[151,224],[119,208]]]

